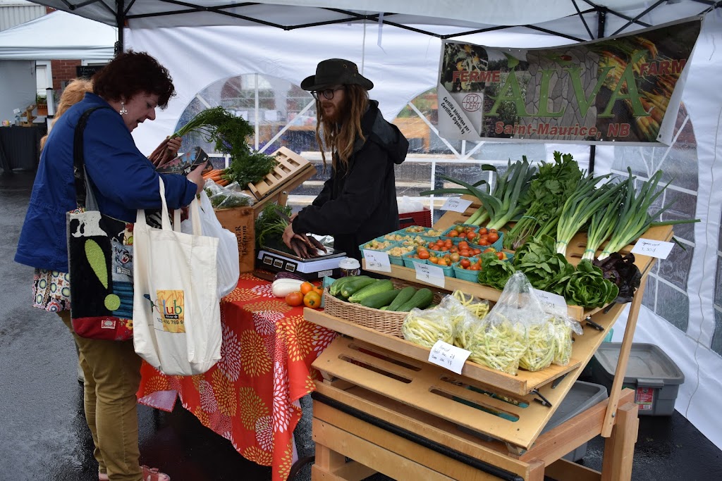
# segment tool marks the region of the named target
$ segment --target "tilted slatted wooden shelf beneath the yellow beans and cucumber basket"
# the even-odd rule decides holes
[[[598,331],[586,325],[584,334],[575,336],[572,352],[573,363],[570,366],[552,365],[536,372],[520,369],[516,376],[488,369],[471,361],[466,361],[464,369],[461,371],[462,374],[459,376],[452,371],[428,363],[428,348],[313,309],[304,309],[303,314],[305,319],[310,322],[351,337],[350,339],[337,338],[314,361],[313,367],[325,373],[327,377],[343,379],[397,402],[412,405],[432,415],[453,421],[473,431],[519,446],[521,449],[529,449],[571,389],[583,366],[586,366],[596,353],[597,348],[604,341],[606,332],[614,325],[624,308],[625,306],[618,304],[613,306],[609,312],[599,312],[593,316],[593,321],[604,327],[604,331]],[[376,348],[374,349],[373,346]],[[381,356],[381,358],[365,353],[367,351]],[[396,366],[391,369],[389,361],[384,361],[384,358],[396,357],[406,358],[406,364],[412,368]],[[369,367],[365,368],[364,366]],[[382,374],[383,372],[395,377]],[[565,374],[566,376],[564,376]],[[564,376],[564,378],[558,384],[552,382],[560,376]],[[410,382],[408,382],[409,379],[411,379]],[[520,408],[501,401],[494,403],[484,394],[476,394],[468,389],[451,389],[453,386],[450,381],[507,395],[516,400],[523,400],[529,404],[529,407]],[[472,402],[484,400],[479,404],[507,412],[512,416],[518,416],[518,420],[510,422],[496,415],[466,406],[461,402],[433,393],[434,389],[446,393],[447,396],[464,398],[472,400]],[[534,389],[538,389],[552,406],[543,406],[534,401],[535,395],[530,394]]]

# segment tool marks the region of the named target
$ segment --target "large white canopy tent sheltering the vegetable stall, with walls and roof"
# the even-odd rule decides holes
[[[67,5],[78,2],[38,3],[68,9]],[[82,3],[74,13],[116,25],[118,17],[107,3]],[[597,37],[601,26],[601,36],[620,29],[630,32],[700,14],[716,3],[490,0],[460,6],[450,1],[288,0],[221,8],[225,5],[221,1],[181,5],[139,0],[129,2],[127,11],[122,3],[113,5],[120,6],[119,17],[128,25],[126,48],[156,56],[170,70],[178,90],[168,109],[134,134],[141,149],[151,151],[158,138],[175,130],[199,92],[222,79],[258,74],[297,85],[323,58],[349,58],[374,81],[372,97],[391,119],[419,94],[435,87],[442,37],[499,47],[562,45]],[[685,381],[677,410],[717,446],[722,446],[722,419],[714,411],[722,392],[722,253],[718,245],[722,146],[716,139],[722,134],[722,92],[710,80],[722,74],[722,53],[715,48],[720,32],[722,18],[717,9],[706,15],[688,63],[683,102],[689,116],[684,123],[692,124],[694,144],[598,147],[595,168],[601,173],[625,173],[631,164],[640,177],[656,169],[669,171],[677,180],[667,198],[681,199],[679,216],[702,220],[678,229],[687,250],[675,247],[674,259],[659,262],[651,274],[635,342],[659,345],[682,369]],[[570,147],[575,146],[560,149],[569,151]],[[547,151],[553,149],[547,146]],[[575,156],[588,155],[588,147],[574,151]],[[468,155],[458,159],[474,162]],[[620,319],[616,340],[622,336],[624,323]]]

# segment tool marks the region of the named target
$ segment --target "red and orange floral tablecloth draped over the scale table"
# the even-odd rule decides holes
[[[176,395],[201,423],[227,438],[246,459],[273,467],[286,480],[293,430],[301,409],[293,402],[312,392],[311,363],[336,336],[303,319],[301,307],[271,294],[271,284],[242,274],[221,301],[221,360],[197,376],[165,376],[143,363],[139,402],[173,410]]]

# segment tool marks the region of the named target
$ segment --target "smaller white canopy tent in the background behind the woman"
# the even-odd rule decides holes
[[[116,28],[66,12],[53,12],[0,32],[0,119],[35,103],[35,61],[107,61]]]

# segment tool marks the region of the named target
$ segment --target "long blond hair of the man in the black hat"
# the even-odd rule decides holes
[[[348,167],[356,137],[366,141],[361,131],[361,118],[368,105],[368,91],[355,84],[345,87],[349,117],[340,125],[323,118],[321,101],[316,100],[316,142],[318,142],[318,148],[321,149],[324,168],[326,167],[326,150],[331,151],[334,168],[336,167],[334,151],[338,154],[338,159],[344,167]],[[322,125],[323,128],[321,128]]]

